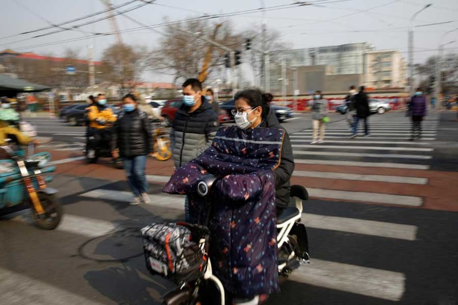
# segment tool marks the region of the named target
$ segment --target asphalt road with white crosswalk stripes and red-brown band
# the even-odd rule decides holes
[[[325,143],[310,145],[309,114],[290,133],[304,202],[311,264],[293,272],[267,304],[458,304],[458,123],[432,113],[409,142],[402,113],[369,118],[371,137],[350,139],[332,114]],[[138,229],[183,218],[183,198],[161,193],[170,161],[148,161],[152,204],[129,206],[122,171],[81,157],[84,128],[31,119],[52,135],[66,217],[54,231],[27,211],[0,219],[0,304],[159,304],[173,287],[149,275]]]

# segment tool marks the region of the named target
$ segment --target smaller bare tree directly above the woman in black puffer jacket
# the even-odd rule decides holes
[[[133,88],[151,64],[151,52],[145,46],[113,44],[103,51],[102,78],[121,88]]]

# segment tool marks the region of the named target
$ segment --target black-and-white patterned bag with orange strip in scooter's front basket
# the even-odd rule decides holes
[[[207,267],[210,231],[184,222],[151,224],[141,229],[148,270],[176,284],[202,277]]]

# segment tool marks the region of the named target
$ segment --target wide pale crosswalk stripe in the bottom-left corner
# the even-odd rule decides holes
[[[28,277],[23,272],[14,272],[2,267],[0,267],[0,291],[2,291],[1,303],[8,305],[102,304],[101,302]]]

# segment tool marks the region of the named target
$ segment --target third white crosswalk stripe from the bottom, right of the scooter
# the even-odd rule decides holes
[[[307,188],[310,197],[330,198],[346,201],[362,201],[367,203],[385,203],[406,206],[421,206],[423,198],[406,195],[392,195],[382,193],[338,191],[328,189]]]

